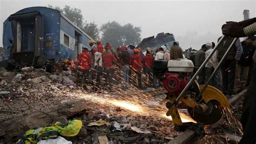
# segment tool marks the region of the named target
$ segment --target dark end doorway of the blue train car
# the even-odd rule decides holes
[[[35,57],[41,56],[43,19],[43,15],[38,11],[18,13],[9,17],[14,36],[11,56],[16,60],[31,63]]]

